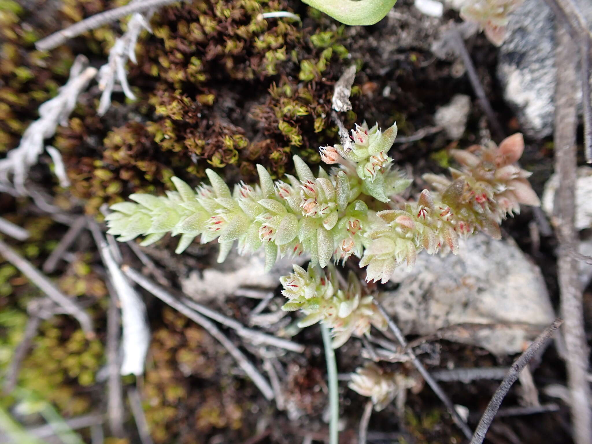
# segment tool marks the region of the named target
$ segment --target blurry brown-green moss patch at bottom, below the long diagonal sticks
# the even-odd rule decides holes
[[[162,314],[164,325],[153,333],[152,363],[144,381],[152,438],[156,443],[199,443],[215,429],[241,429],[250,390],[238,391],[229,374],[231,358],[184,316],[168,307]]]

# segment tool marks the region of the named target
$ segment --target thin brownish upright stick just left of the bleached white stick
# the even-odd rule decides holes
[[[121,362],[119,359],[121,315],[115,299],[117,298],[117,292],[112,288],[113,285],[110,280],[107,280],[107,287],[111,295],[107,310],[107,346],[105,350],[109,370],[107,379],[107,417],[112,435],[123,438],[125,436],[123,427],[124,406],[120,374]]]

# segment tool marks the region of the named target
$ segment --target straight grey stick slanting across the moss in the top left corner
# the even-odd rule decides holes
[[[134,12],[148,11],[151,8],[157,8],[179,1],[185,0],[144,0],[142,2],[133,2],[120,8],[100,12],[99,14],[92,15],[91,17],[79,21],[61,31],[57,31],[57,33],[42,38],[35,43],[35,47],[38,51],[50,51],[65,43],[66,40],[70,38],[78,37],[79,35],[86,33],[86,31],[92,31],[102,25],[119,20],[126,15],[134,14]]]

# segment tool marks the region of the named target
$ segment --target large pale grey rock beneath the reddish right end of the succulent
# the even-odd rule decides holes
[[[460,251],[422,253],[410,271],[397,269],[391,281],[400,287],[385,295],[385,309],[406,334],[445,329],[445,339],[496,355],[523,351],[554,320],[540,269],[511,239],[477,234]]]

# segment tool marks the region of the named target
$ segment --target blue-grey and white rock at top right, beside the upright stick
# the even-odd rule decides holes
[[[592,2],[576,2],[592,24]],[[555,112],[555,24],[543,0],[526,0],[510,15],[497,76],[523,132],[535,139],[549,136]]]

